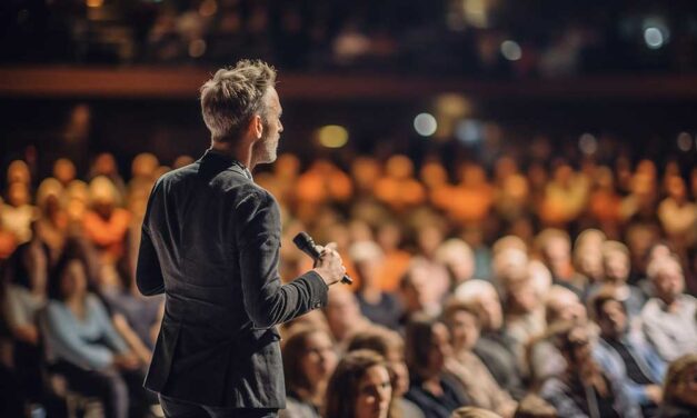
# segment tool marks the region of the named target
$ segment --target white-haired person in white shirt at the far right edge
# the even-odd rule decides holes
[[[675,258],[651,261],[647,276],[655,297],[641,310],[644,334],[660,357],[673,361],[697,351],[697,299],[684,293],[685,275]]]

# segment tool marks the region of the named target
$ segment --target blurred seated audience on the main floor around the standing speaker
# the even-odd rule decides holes
[[[191,162],[7,166],[0,415],[160,412],[141,381],[163,299],[135,260],[152,185]],[[355,280],[282,327],[282,417],[697,415],[697,168],[286,153],[255,181],[281,207],[283,280],[311,268],[302,230]]]

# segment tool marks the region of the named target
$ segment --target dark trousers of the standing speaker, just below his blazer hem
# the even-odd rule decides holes
[[[160,394],[160,405],[167,418],[276,418],[278,409],[208,407],[170,398]]]

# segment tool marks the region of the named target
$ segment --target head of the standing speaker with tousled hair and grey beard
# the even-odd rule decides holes
[[[216,142],[251,138],[252,161],[276,160],[281,106],[273,87],[276,70],[262,61],[241,60],[220,69],[201,87],[201,113]]]

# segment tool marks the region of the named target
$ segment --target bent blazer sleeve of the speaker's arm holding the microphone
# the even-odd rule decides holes
[[[236,208],[245,310],[255,328],[265,329],[327,305],[328,287],[315,271],[281,285],[280,211],[263,190],[251,191]]]

